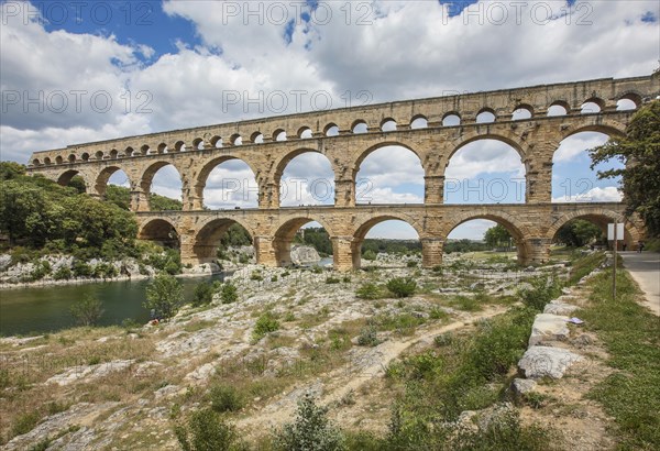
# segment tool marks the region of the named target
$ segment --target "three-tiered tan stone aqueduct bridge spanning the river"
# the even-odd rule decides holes
[[[285,264],[290,261],[290,242],[298,228],[318,221],[331,237],[334,267],[346,271],[359,267],[361,244],[373,226],[399,219],[417,230],[422,263],[429,267],[441,263],[450,231],[477,218],[494,220],[512,232],[519,261],[542,262],[554,233],[566,221],[585,218],[604,226],[615,218],[623,220],[623,204],[550,204],[552,156],[560,142],[582,131],[623,134],[634,111],[618,111],[617,101],[629,99],[639,107],[656,98],[659,87],[660,77],[654,74],[282,116],[36,152],[29,172],[62,184],[80,175],[89,194],[103,196],[109,177],[122,169],[130,179],[140,237],[168,240],[175,231],[184,263],[212,261],[219,238],[238,222],[252,234],[258,263]],[[597,105],[600,111],[584,113],[581,107],[585,102]],[[548,116],[551,106],[562,107],[565,114]],[[528,110],[529,118],[513,120],[518,109]],[[477,123],[476,117],[484,111],[495,120]],[[451,114],[460,118],[460,124],[444,127],[443,119]],[[426,127],[411,127],[414,121],[424,123],[417,119],[424,119]],[[396,129],[383,131],[384,124],[393,121]],[[365,133],[354,132],[360,123],[366,125]],[[526,168],[525,204],[442,204],[450,158],[465,144],[482,139],[499,140],[519,153]],[[361,163],[371,152],[388,145],[406,147],[419,157],[425,170],[424,205],[355,204]],[[306,152],[321,153],[330,161],[334,206],[279,207],[284,169]],[[202,194],[210,172],[234,158],[245,162],[255,175],[258,208],[204,210]],[[152,179],[166,165],[176,167],[182,177],[184,210],[151,212]],[[626,223],[629,243],[642,234],[644,224],[638,220]]]

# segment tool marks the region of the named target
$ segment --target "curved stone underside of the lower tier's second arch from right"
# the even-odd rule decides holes
[[[516,243],[516,248],[518,250],[518,263],[527,264],[531,260],[532,246],[528,239],[534,237],[534,234],[527,226],[520,222],[519,218],[516,218],[504,211],[465,211],[454,215],[451,217],[450,222],[442,227],[440,237],[444,242],[447,242],[447,239],[452,230],[462,223],[472,221],[474,219],[487,219],[503,226],[512,234]]]

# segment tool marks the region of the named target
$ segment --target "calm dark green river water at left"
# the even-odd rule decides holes
[[[221,275],[180,278],[186,300],[193,299],[195,286],[200,282],[221,278]],[[144,279],[0,290],[0,336],[45,333],[73,327],[69,308],[88,294],[103,305],[100,326],[121,324],[124,319],[145,323],[150,317],[142,302],[147,284]]]

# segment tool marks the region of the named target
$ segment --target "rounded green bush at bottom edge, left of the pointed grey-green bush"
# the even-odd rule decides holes
[[[174,431],[184,451],[228,451],[238,439],[233,426],[209,408],[196,411],[187,427],[179,425]]]

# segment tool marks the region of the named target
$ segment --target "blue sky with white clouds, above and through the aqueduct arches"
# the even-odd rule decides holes
[[[380,102],[448,91],[648,75],[660,57],[656,0],[532,0],[519,11],[506,2],[476,0],[6,0],[0,4],[0,158],[22,163],[38,150],[276,113],[268,108],[255,111],[242,105],[227,106],[222,94],[229,91],[251,97],[300,89],[323,91],[333,107],[341,107],[346,92],[353,102],[361,100],[354,98],[358,92]],[[578,42],[588,45],[576,46]],[[72,90],[106,91],[112,108],[99,112],[84,103],[78,111],[72,101],[69,108],[54,112],[4,103],[7,92],[46,96]],[[139,96],[146,95],[148,112],[138,108],[145,99]],[[290,102],[277,113],[314,108],[307,103],[298,110]],[[566,196],[576,200],[580,194],[596,200],[617,198],[617,182],[597,180],[581,153],[604,139],[581,134],[558,151],[554,200]],[[298,184],[301,191],[299,199],[285,199],[285,205],[319,201],[310,189],[324,185],[311,180],[327,179],[332,185],[333,178],[322,158],[305,154],[292,162],[284,180]],[[480,201],[474,189],[464,188],[482,180],[486,194],[488,189],[496,194],[491,200],[521,201],[517,196],[521,188],[518,179],[524,175],[520,168],[510,147],[474,143],[452,158],[448,177],[455,176],[459,185],[451,186],[446,200]],[[374,204],[420,202],[422,176],[417,157],[400,147],[370,155],[359,174],[371,184],[365,202]],[[255,199],[227,186],[227,179],[251,177],[250,169],[239,163],[218,167],[207,185],[207,205],[254,206]],[[111,182],[122,183],[121,174]],[[178,185],[177,174],[164,168],[153,189],[177,197]],[[503,186],[507,191],[501,196]],[[320,202],[328,199],[326,196]],[[483,221],[466,224],[452,238],[480,238],[487,226]],[[414,235],[409,228],[387,224],[372,232]]]

